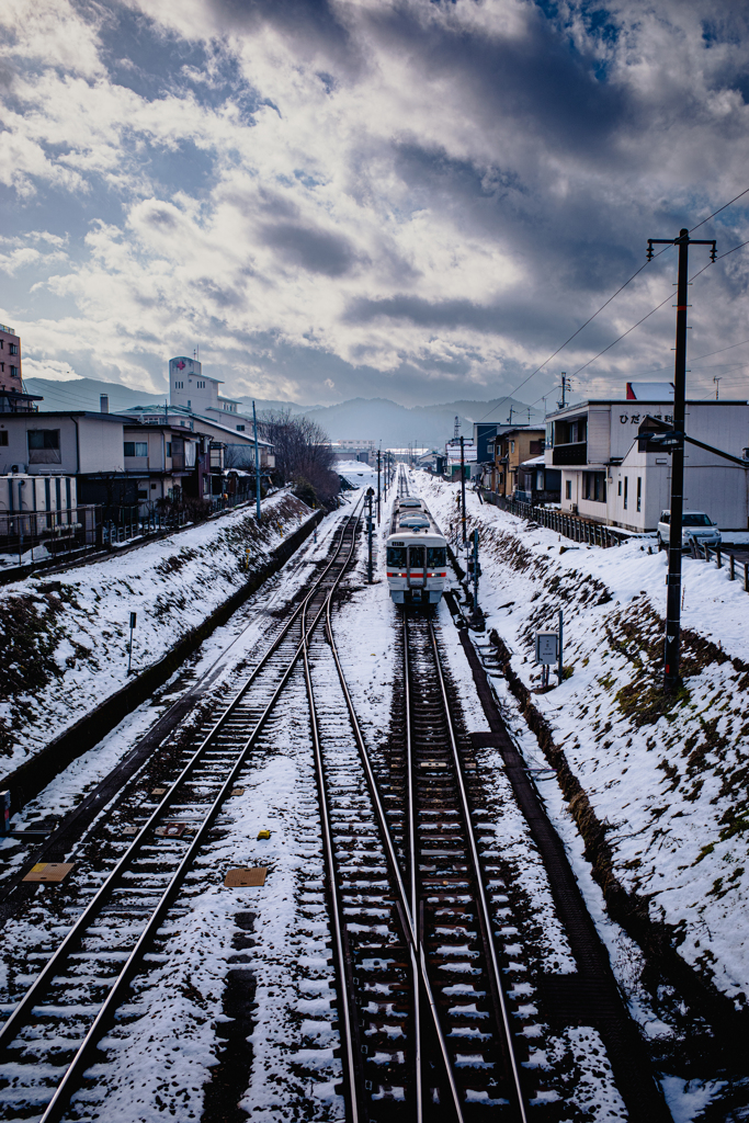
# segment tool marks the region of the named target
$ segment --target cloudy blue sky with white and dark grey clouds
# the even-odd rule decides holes
[[[728,0],[3,0],[0,31],[0,319],[27,377],[161,391],[199,347],[236,394],[490,399],[648,237],[749,188]],[[695,237],[749,238],[749,194]],[[675,265],[517,396],[554,398],[561,369],[576,395],[668,378],[670,300],[579,368]],[[748,282],[749,247],[691,290],[697,396],[748,394]]]

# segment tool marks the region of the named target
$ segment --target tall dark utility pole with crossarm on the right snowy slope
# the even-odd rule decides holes
[[[668,576],[666,577],[666,642],[664,645],[664,690],[675,693],[679,684],[679,632],[682,623],[682,520],[684,514],[684,428],[686,421],[686,310],[689,246],[711,246],[715,261],[715,241],[689,238],[679,230],[678,238],[648,238],[648,261],[655,245],[678,246],[678,280],[676,282],[676,356],[674,359],[674,436],[672,449],[672,506],[668,535]]]

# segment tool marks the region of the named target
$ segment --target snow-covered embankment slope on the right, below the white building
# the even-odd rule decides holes
[[[413,486],[446,532],[458,529],[457,486],[426,473]],[[482,505],[472,492],[466,501],[469,529],[481,535],[487,632],[496,629],[530,688],[533,634],[556,630],[564,610],[568,677],[535,704],[606,827],[618,878],[672,926],[679,953],[743,1004],[747,593],[725,569],[684,559],[684,690],[664,704],[665,555],[638,540],[588,548]]]

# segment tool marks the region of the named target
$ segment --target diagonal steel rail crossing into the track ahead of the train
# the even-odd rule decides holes
[[[348,690],[348,683],[346,682],[346,676],[344,675],[344,668],[341,666],[340,658],[338,656],[338,648],[336,647],[336,641],[332,634],[332,622],[330,619],[330,600],[328,600],[327,612],[326,612],[326,632],[328,636],[328,642],[330,643],[330,649],[332,651],[332,657],[336,663],[336,669],[338,670],[338,678],[340,681],[341,690],[344,692],[344,697],[346,699],[346,706],[348,709],[348,713],[351,720],[351,728],[354,730],[354,737],[356,739],[359,757],[364,766],[364,774],[366,777],[367,787],[369,788],[369,796],[372,798],[372,803],[375,809],[377,823],[380,825],[380,832],[382,834],[383,844],[385,848],[389,870],[398,888],[398,896],[400,898],[400,912],[402,913],[403,928],[410,946],[411,969],[414,978],[413,1010],[414,1010],[414,1039],[417,1043],[417,1070],[415,1070],[417,1105],[418,1105],[417,1120],[418,1123],[421,1123],[421,1120],[423,1117],[423,1078],[421,1071],[422,1068],[421,1015],[419,1011],[419,1001],[420,1001],[419,979],[420,979],[420,984],[421,987],[423,988],[423,994],[426,995],[427,1003],[429,1005],[429,1012],[431,1014],[432,1022],[435,1025],[435,1032],[437,1034],[440,1053],[445,1065],[445,1071],[447,1074],[447,1080],[450,1087],[450,1094],[453,1096],[453,1105],[455,1107],[456,1119],[458,1123],[464,1123],[463,1107],[460,1106],[460,1097],[453,1075],[450,1056],[447,1049],[447,1042],[445,1040],[445,1034],[442,1032],[442,1026],[439,1020],[439,1012],[437,1010],[437,1003],[435,1001],[435,995],[431,988],[429,973],[427,970],[427,958],[415,925],[415,910],[412,909],[411,903],[409,901],[409,896],[405,892],[400,862],[398,860],[398,855],[395,853],[395,848],[393,847],[393,840],[390,833],[390,827],[387,825],[387,819],[385,816],[382,797],[380,795],[380,785],[377,784],[377,778],[372,767],[369,752],[367,750],[364,737],[362,734],[362,728],[359,725],[358,718],[356,716],[354,702],[351,701],[351,695]]]

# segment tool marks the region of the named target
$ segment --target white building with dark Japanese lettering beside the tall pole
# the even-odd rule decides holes
[[[673,399],[587,401],[547,416],[545,459],[561,471],[563,511],[627,530],[655,530],[670,506],[670,456],[664,449],[639,451],[646,414],[672,423]],[[686,433],[742,457],[749,403],[689,401]],[[748,468],[685,445],[684,506],[705,511],[724,530],[746,530]]]

